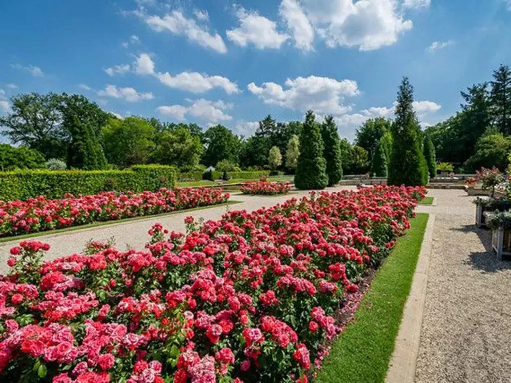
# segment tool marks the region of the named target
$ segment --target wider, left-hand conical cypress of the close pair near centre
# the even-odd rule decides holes
[[[328,184],[323,139],[312,110],[307,112],[300,134],[300,155],[294,183],[298,189],[324,189]]]

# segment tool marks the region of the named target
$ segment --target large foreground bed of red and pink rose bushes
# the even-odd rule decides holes
[[[155,225],[146,251],[91,243],[42,266],[49,246],[21,243],[0,277],[0,379],[306,382],[340,331],[336,310],[424,192],[375,186],[189,217],[187,235]]]

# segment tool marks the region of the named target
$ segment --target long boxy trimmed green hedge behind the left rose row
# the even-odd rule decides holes
[[[176,184],[175,167],[136,165],[130,170],[22,170],[0,172],[0,200],[38,196],[62,198],[66,193],[93,195],[102,190],[157,190]]]

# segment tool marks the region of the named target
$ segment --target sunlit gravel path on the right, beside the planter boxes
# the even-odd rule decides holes
[[[511,381],[511,262],[474,225],[473,197],[431,190],[435,213],[416,382]]]

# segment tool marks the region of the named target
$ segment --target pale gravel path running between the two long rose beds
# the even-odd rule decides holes
[[[335,191],[343,188],[354,188],[351,186],[331,187],[327,190]],[[51,250],[47,253],[45,259],[52,260],[64,255],[71,255],[83,251],[85,244],[90,239],[95,241],[107,241],[109,238],[115,239],[115,246],[124,250],[128,247],[137,250],[143,250],[144,245],[148,242],[148,230],[155,223],[161,223],[165,228],[174,231],[184,231],[185,226],[183,220],[185,217],[193,216],[195,219],[218,220],[227,211],[247,210],[253,211],[262,207],[270,207],[278,203],[285,202],[292,198],[301,198],[310,192],[294,191],[287,196],[282,197],[260,197],[260,196],[243,196],[236,194],[231,196],[230,201],[240,201],[242,203],[211,207],[202,210],[184,211],[169,216],[148,217],[144,220],[125,222],[119,224],[111,224],[96,228],[83,229],[77,231],[69,231],[61,234],[48,234],[33,238],[34,240],[49,243]],[[19,239],[14,239],[6,243],[0,243],[0,274],[6,274],[8,271],[7,260],[9,259],[9,250],[17,245]]]

